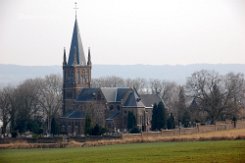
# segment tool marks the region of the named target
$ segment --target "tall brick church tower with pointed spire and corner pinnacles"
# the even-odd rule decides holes
[[[81,89],[90,88],[91,69],[90,49],[88,49],[88,61],[86,62],[76,16],[68,62],[64,49],[63,115],[74,109],[73,102],[77,99]]]

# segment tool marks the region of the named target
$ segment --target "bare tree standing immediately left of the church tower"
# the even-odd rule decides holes
[[[51,120],[61,114],[62,80],[61,76],[48,75],[40,82],[38,103],[47,121],[47,133],[51,132]]]

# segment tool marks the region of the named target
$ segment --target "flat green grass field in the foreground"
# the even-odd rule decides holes
[[[245,162],[245,140],[8,149],[0,162]]]

